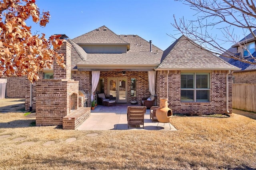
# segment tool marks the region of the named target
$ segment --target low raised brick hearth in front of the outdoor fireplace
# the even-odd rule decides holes
[[[90,107],[80,107],[63,117],[62,128],[76,130],[90,115]]]

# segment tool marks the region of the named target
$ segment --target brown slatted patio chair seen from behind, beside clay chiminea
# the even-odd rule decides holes
[[[143,125],[146,106],[128,106],[127,107],[127,123],[129,125]]]

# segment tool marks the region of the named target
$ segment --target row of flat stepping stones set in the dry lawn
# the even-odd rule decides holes
[[[93,137],[93,136],[97,136],[97,135],[99,135],[99,134],[98,133],[91,133],[91,134],[87,134],[86,136]],[[11,136],[12,135],[10,135],[10,134],[0,135],[0,140],[1,139],[7,139],[8,140],[8,138],[11,137]],[[25,139],[26,139],[26,137],[18,137],[18,138],[12,139],[12,141],[21,141],[21,140],[25,140]],[[71,143],[71,142],[74,142],[74,141],[76,141],[76,138],[68,138],[68,139],[66,139],[67,143]],[[55,141],[51,140],[51,141],[45,142],[42,145],[43,146],[48,146],[48,145],[51,145],[51,144],[54,144],[54,143],[55,143]],[[35,141],[26,141],[26,142],[20,143],[19,145],[32,145],[32,144],[36,144],[36,142]]]

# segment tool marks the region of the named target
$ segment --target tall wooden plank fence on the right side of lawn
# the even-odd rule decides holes
[[[256,84],[233,84],[234,109],[256,112]]]

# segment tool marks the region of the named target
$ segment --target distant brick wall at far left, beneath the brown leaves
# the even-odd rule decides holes
[[[6,97],[7,98],[25,98],[26,91],[26,76],[11,76],[4,77],[7,79],[6,82]]]

